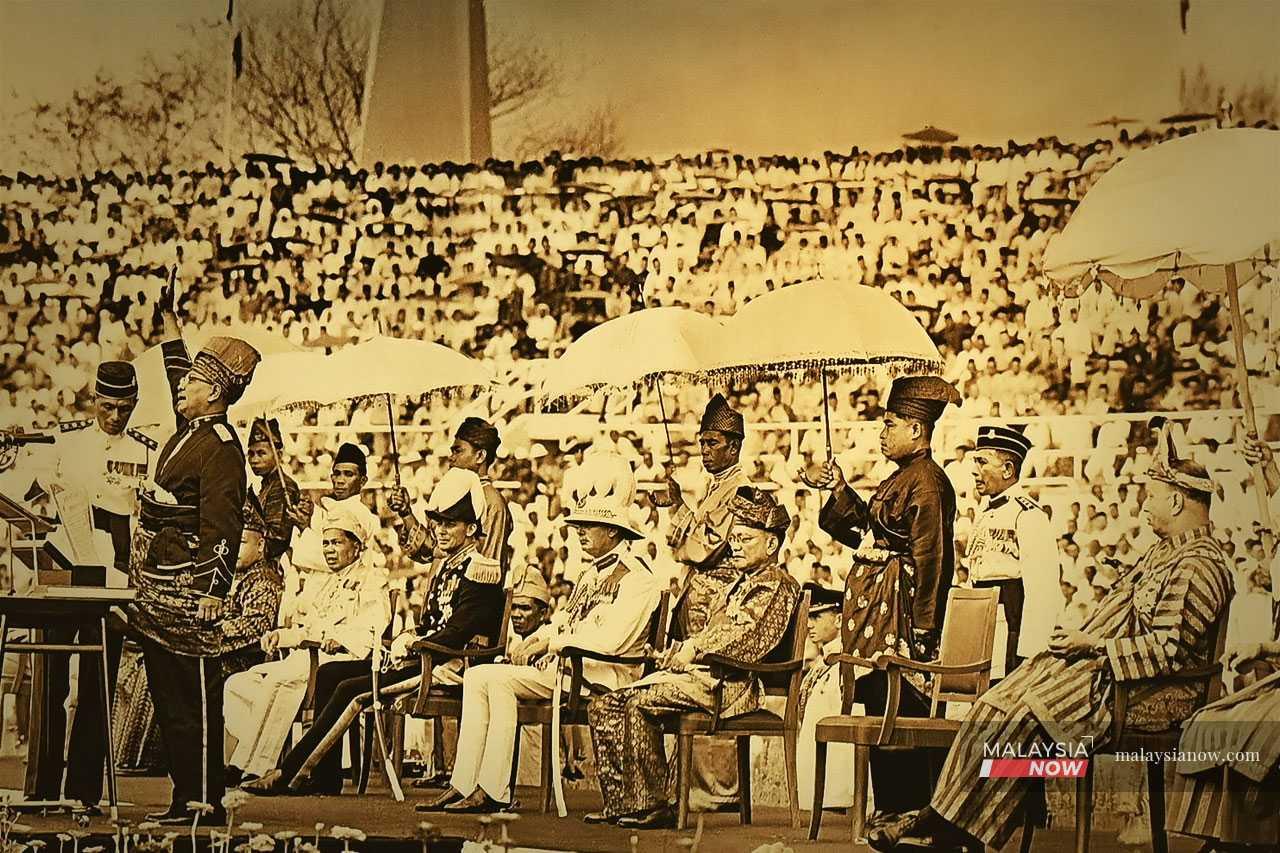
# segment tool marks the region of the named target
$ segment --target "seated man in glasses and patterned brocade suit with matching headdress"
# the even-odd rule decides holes
[[[676,813],[668,800],[668,765],[660,716],[680,711],[710,711],[721,692],[723,717],[760,707],[755,678],[719,681],[704,654],[739,661],[763,660],[790,626],[800,585],[778,567],[778,551],[790,517],[767,492],[744,485],[733,502],[733,525],[722,565],[741,571],[707,625],[671,647],[660,670],[631,686],[594,699],[588,711],[604,811],[588,822],[614,822],[630,829],[671,827]]]

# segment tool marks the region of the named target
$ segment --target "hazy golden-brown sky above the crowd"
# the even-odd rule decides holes
[[[250,1],[250,0],[242,0]],[[264,0],[252,0],[261,3]],[[1180,68],[1280,77],[1280,3],[1190,0],[488,0],[492,32],[566,69],[556,109],[609,104],[626,149],[668,155],[886,147],[924,124],[968,141],[1153,122]],[[128,74],[224,0],[0,0],[0,120],[96,70]],[[209,36],[206,36],[209,37]],[[17,101],[12,93],[17,92]]]

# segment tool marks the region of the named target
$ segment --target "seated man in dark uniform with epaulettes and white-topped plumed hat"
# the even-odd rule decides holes
[[[503,576],[498,562],[476,551],[484,491],[472,471],[451,469],[431,492],[428,517],[435,537],[435,565],[426,606],[415,630],[392,642],[383,661],[379,690],[399,695],[419,685],[421,661],[411,653],[425,639],[448,648],[488,644],[498,637],[503,610]],[[372,701],[374,672],[364,661],[334,661],[316,672],[315,722],[280,761],[244,785],[255,794],[342,792],[342,735]]]

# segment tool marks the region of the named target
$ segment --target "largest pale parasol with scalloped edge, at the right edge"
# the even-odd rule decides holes
[[[1102,175],[1044,251],[1044,272],[1069,287],[1102,279],[1123,296],[1149,298],[1178,277],[1226,293],[1236,384],[1254,435],[1239,270],[1251,278],[1280,248],[1277,168],[1275,131],[1203,131],[1162,142]],[[1266,480],[1257,467],[1253,479],[1270,540]]]

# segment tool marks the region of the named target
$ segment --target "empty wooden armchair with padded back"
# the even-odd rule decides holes
[[[991,653],[996,643],[996,610],[1000,590],[952,589],[947,596],[947,617],[942,626],[942,642],[936,662],[911,661],[897,654],[884,654],[874,661],[852,654],[832,654],[828,663],[840,662],[841,713],[823,717],[814,727],[817,749],[814,753],[813,811],[809,813],[809,840],[817,840],[822,827],[822,802],[827,783],[827,745],[849,743],[854,745],[854,839],[863,836],[867,826],[867,790],[870,751],[888,749],[946,749],[960,730],[959,720],[938,716],[943,702],[973,702],[991,686]],[[849,712],[852,707],[854,667],[882,669],[888,678],[888,699],[882,717],[858,717]],[[900,717],[902,676],[908,672],[929,672],[933,689],[929,695],[929,716]]]

